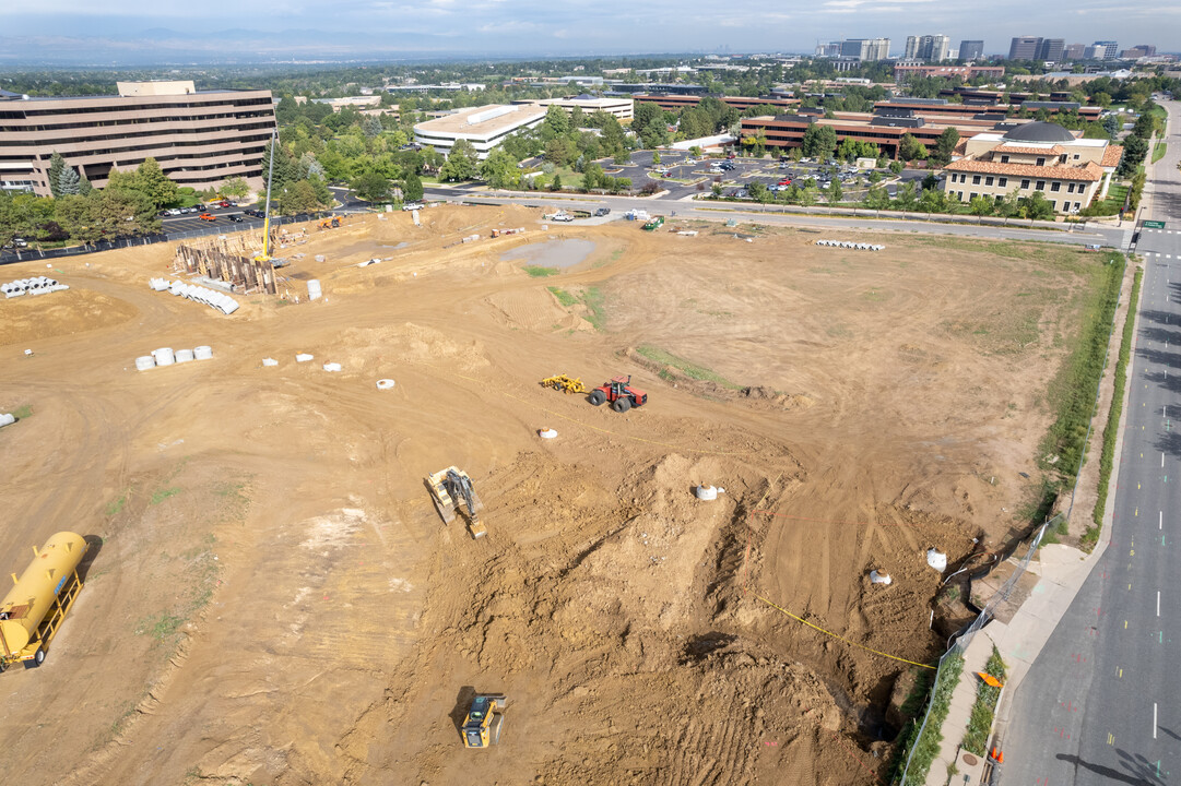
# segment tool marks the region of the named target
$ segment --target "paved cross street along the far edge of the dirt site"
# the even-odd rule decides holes
[[[613,214],[627,210],[660,211],[677,218],[694,218],[703,221],[726,221],[737,218],[750,222],[757,217],[759,223],[788,227],[813,227],[840,230],[862,231],[901,231],[934,232],[958,235],[964,237],[986,237],[991,240],[1030,240],[1053,243],[1071,243],[1084,245],[1101,243],[1113,248],[1127,248],[1131,236],[1130,224],[1123,228],[1091,228],[1087,231],[1045,231],[1038,229],[1020,229],[1014,227],[991,227],[973,224],[952,224],[934,221],[892,221],[874,218],[829,217],[820,214],[776,212],[774,205],[726,203],[726,202],[653,202],[640,197],[550,197],[529,196],[524,194],[497,194],[475,189],[426,189],[429,199],[464,199],[484,204],[523,204],[541,208],[578,208],[593,210],[598,205],[607,205]]]

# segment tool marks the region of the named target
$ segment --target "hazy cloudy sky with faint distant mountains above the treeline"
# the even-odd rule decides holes
[[[167,31],[172,31],[168,33]],[[1068,44],[1116,40],[1121,48],[1181,48],[1181,2],[1140,0],[6,0],[0,48],[47,39],[98,38],[118,48],[216,48],[257,31],[257,51],[468,51],[472,54],[627,52],[810,52],[817,41],[945,33],[952,47],[984,39],[1009,51],[1013,35]],[[137,40],[138,39],[138,40]]]

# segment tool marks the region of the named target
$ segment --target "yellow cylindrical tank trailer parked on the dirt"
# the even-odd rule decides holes
[[[45,650],[66,618],[81,581],[78,564],[87,544],[80,535],[58,532],[40,550],[15,587],[0,602],[0,672],[18,661],[25,668],[40,666]]]

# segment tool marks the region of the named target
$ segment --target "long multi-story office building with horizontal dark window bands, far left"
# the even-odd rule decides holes
[[[54,152],[97,188],[111,170],[132,170],[146,158],[177,185],[203,190],[230,177],[262,184],[275,129],[269,90],[120,81],[118,91],[78,98],[0,92],[0,188],[48,196]]]

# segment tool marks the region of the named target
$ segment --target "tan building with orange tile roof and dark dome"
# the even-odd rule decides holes
[[[1079,139],[1053,123],[1025,123],[1006,133],[978,133],[964,157],[944,168],[944,191],[960,202],[1035,191],[1056,212],[1076,212],[1107,197],[1123,155],[1107,139]]]

